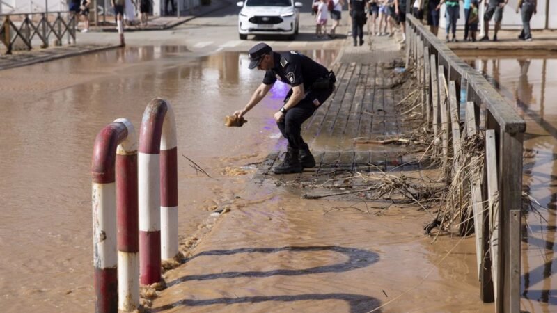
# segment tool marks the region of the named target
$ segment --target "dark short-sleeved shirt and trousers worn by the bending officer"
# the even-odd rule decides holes
[[[263,83],[272,85],[277,80],[292,87],[304,84],[306,95],[296,106],[288,109],[281,122],[277,122],[284,138],[292,149],[307,149],[308,145],[301,138],[301,125],[313,115],[313,112],[329,98],[334,90],[334,78],[330,79],[329,71],[311,58],[294,51],[273,52],[274,67],[265,71]],[[292,95],[288,92],[284,102]]]

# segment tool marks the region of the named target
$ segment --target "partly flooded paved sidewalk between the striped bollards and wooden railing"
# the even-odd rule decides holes
[[[421,229],[430,213],[412,203],[377,200],[377,191],[366,189],[380,181],[373,174],[428,176],[411,146],[356,144],[355,138],[403,136],[415,126],[397,105],[407,91],[399,84],[404,74],[392,68],[402,62],[400,47],[393,38],[367,39],[359,47],[345,40],[334,64],[336,91],[304,125],[317,166],[270,174],[285,151],[279,143],[228,209],[186,234],[180,243],[186,262],[164,274],[168,287],[152,300],[151,312],[481,307],[473,282],[451,279],[466,277],[466,266],[462,276],[450,269],[451,278],[437,267],[443,253]],[[354,177],[362,177],[360,192],[347,183]],[[462,262],[464,255],[473,262],[473,246],[460,246],[455,255],[446,262]],[[430,275],[432,268],[439,271]]]

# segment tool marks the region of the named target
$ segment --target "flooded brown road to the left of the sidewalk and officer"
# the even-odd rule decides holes
[[[308,55],[324,64],[336,57]],[[184,47],[146,46],[1,73],[0,290],[8,311],[91,311],[93,142],[116,118],[139,129],[153,97],[175,111],[180,234],[193,232],[207,207],[242,189],[246,175],[230,169],[242,173],[272,150],[278,138],[272,113],[286,90],[277,84],[241,129],[224,127],[224,116],[241,109],[260,83],[261,73],[246,62],[235,52],[191,58]],[[213,179],[207,182],[182,154]]]

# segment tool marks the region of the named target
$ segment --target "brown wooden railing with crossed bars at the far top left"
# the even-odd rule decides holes
[[[75,43],[77,20],[71,12],[0,15],[0,22],[0,42],[6,46],[6,54],[12,53],[18,40],[28,50],[33,49],[33,38],[39,38],[40,47],[48,47],[51,35],[55,45],[62,45],[64,35],[68,35],[68,44]]]

